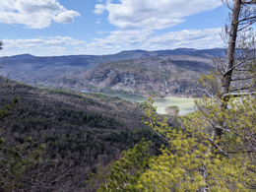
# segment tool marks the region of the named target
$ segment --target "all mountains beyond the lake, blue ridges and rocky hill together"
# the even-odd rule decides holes
[[[30,85],[124,91],[140,96],[193,96],[200,93],[197,79],[214,68],[212,57],[223,54],[221,48],[177,48],[129,50],[111,55],[23,54],[0,59],[5,59],[1,74]]]

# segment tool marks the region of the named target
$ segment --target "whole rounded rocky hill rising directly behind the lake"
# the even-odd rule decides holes
[[[139,96],[200,96],[197,83],[213,69],[211,59],[173,56],[101,63],[79,75],[84,89]]]

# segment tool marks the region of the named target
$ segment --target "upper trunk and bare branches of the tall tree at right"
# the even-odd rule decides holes
[[[222,96],[248,94],[254,88],[255,35],[252,25],[256,22],[255,0],[223,0],[232,11],[224,27],[223,39],[227,42],[226,62],[219,71],[223,75]],[[247,84],[242,83],[244,81]],[[249,81],[251,80],[251,81]],[[248,84],[249,81],[249,84]]]

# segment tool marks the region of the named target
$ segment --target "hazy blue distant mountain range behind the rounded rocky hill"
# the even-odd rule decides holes
[[[202,66],[200,64],[201,59],[211,60],[213,56],[222,55],[222,54],[223,54],[223,50],[218,48],[204,49],[204,50],[189,49],[189,48],[177,48],[174,50],[158,50],[158,51],[128,50],[128,51],[121,51],[119,53],[110,54],[110,55],[69,55],[69,56],[36,57],[30,54],[23,54],[23,55],[0,58],[0,60],[5,58],[5,65],[1,69],[0,75],[9,74],[9,77],[11,79],[15,79],[17,81],[27,83],[30,85],[37,85],[38,87],[53,86],[56,88],[56,86],[62,86],[62,87],[68,87],[69,89],[80,89],[80,88],[85,88],[84,85],[88,83],[97,86],[97,83],[81,81],[82,79],[84,80],[84,78],[81,79],[80,74],[82,75],[85,74],[87,70],[94,69],[100,63],[118,61],[118,60],[122,62],[122,60],[136,59],[136,58],[141,58],[141,59],[145,58],[146,60],[144,63],[146,63],[150,58],[152,58],[150,59],[150,62],[153,62],[155,57],[162,57],[163,60],[167,60],[164,57],[168,57],[168,56],[173,57],[177,55],[179,55],[179,57],[183,57],[183,58],[180,58],[179,61],[180,62],[182,61],[184,63],[186,62],[187,56],[182,56],[182,55],[190,55],[190,57],[199,58],[199,59],[193,60],[193,62],[199,61],[198,64],[196,63],[193,64],[194,68],[196,67],[199,68]],[[188,62],[191,63],[191,61],[189,60]],[[156,65],[158,65],[158,62],[156,63]],[[162,66],[164,66],[164,64],[162,64]],[[184,64],[180,64],[179,67],[182,68],[187,66]],[[96,70],[98,69],[100,68],[96,68]],[[155,68],[154,70],[159,70],[159,69],[160,68]],[[143,69],[140,69],[140,70],[142,71]],[[166,70],[168,70],[168,68],[166,68]],[[202,71],[202,70],[199,69],[199,71]],[[176,75],[179,76],[178,70],[173,70],[170,73],[172,73],[173,75],[176,72],[177,72]],[[165,72],[159,71],[158,73],[164,75]],[[162,81],[163,80],[161,80],[161,82]],[[137,83],[138,82],[140,81],[137,81]],[[184,85],[189,83],[189,82],[184,82],[183,80],[182,82],[176,81],[178,85]],[[160,85],[158,84],[158,86]],[[161,83],[161,86],[162,86],[162,83]],[[106,86],[106,87],[112,88],[112,86],[110,87]],[[113,90],[116,90],[115,89],[116,87],[114,87]],[[157,88],[155,88],[156,87],[155,85],[153,85],[153,87],[154,87],[153,90],[158,90]],[[173,86],[169,85],[169,87],[173,87]],[[187,88],[187,86],[181,86],[181,87],[183,87],[183,89]],[[126,88],[126,87],[125,88],[120,87],[120,89],[127,90],[127,91],[129,90],[132,93],[137,93],[135,89],[131,90],[130,88]],[[164,90],[166,90],[165,86],[164,86]],[[169,91],[172,92],[172,90],[169,90]],[[160,91],[160,93],[159,94],[162,96],[169,96],[168,93],[163,94],[163,91]],[[172,94],[177,95],[177,93],[178,91],[175,91],[175,93],[172,93]],[[191,95],[191,94],[185,94],[185,95]],[[146,95],[146,94],[143,93],[143,95]]]

